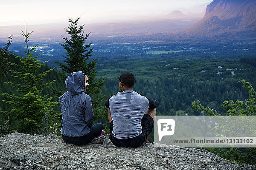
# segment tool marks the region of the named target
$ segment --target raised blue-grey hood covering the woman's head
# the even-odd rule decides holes
[[[84,93],[85,77],[82,71],[73,72],[68,75],[65,83],[70,95]]]

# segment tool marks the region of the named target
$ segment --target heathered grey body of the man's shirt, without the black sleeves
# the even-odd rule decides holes
[[[108,106],[115,138],[133,138],[142,133],[140,121],[149,108],[148,98],[135,91],[122,91],[109,99]]]

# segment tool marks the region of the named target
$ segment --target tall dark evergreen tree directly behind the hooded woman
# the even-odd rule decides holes
[[[91,62],[87,62],[87,60],[92,56],[93,47],[91,47],[92,43],[85,44],[85,40],[90,35],[84,35],[84,25],[78,28],[78,21],[80,18],[76,20],[69,19],[69,27],[66,29],[67,33],[70,35],[70,39],[62,36],[65,40],[61,46],[67,50],[66,55],[64,57],[64,63],[56,62],[60,68],[62,69],[62,74],[60,75],[61,79],[65,82],[67,77],[66,74],[71,74],[75,71],[82,71],[88,77],[89,86],[86,90],[88,95],[97,95],[100,92],[100,89],[105,84],[105,80],[103,78],[99,78],[95,80],[96,76],[96,60],[98,58],[92,59]],[[99,108],[99,103],[102,102],[104,96],[99,98],[93,98],[92,96],[92,104],[93,104],[93,112],[95,115],[95,119],[102,119],[103,117],[107,117],[107,112],[105,108]]]

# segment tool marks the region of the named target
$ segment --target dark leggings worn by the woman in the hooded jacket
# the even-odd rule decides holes
[[[66,143],[72,143],[76,145],[84,145],[90,143],[95,137],[100,136],[102,133],[103,124],[97,123],[91,127],[90,132],[87,135],[80,137],[69,137],[62,135],[62,139]]]

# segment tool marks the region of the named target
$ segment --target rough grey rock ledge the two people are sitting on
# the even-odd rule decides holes
[[[58,136],[12,133],[0,137],[0,170],[255,170],[203,149],[174,145],[117,148],[105,135],[103,144],[76,146]]]

